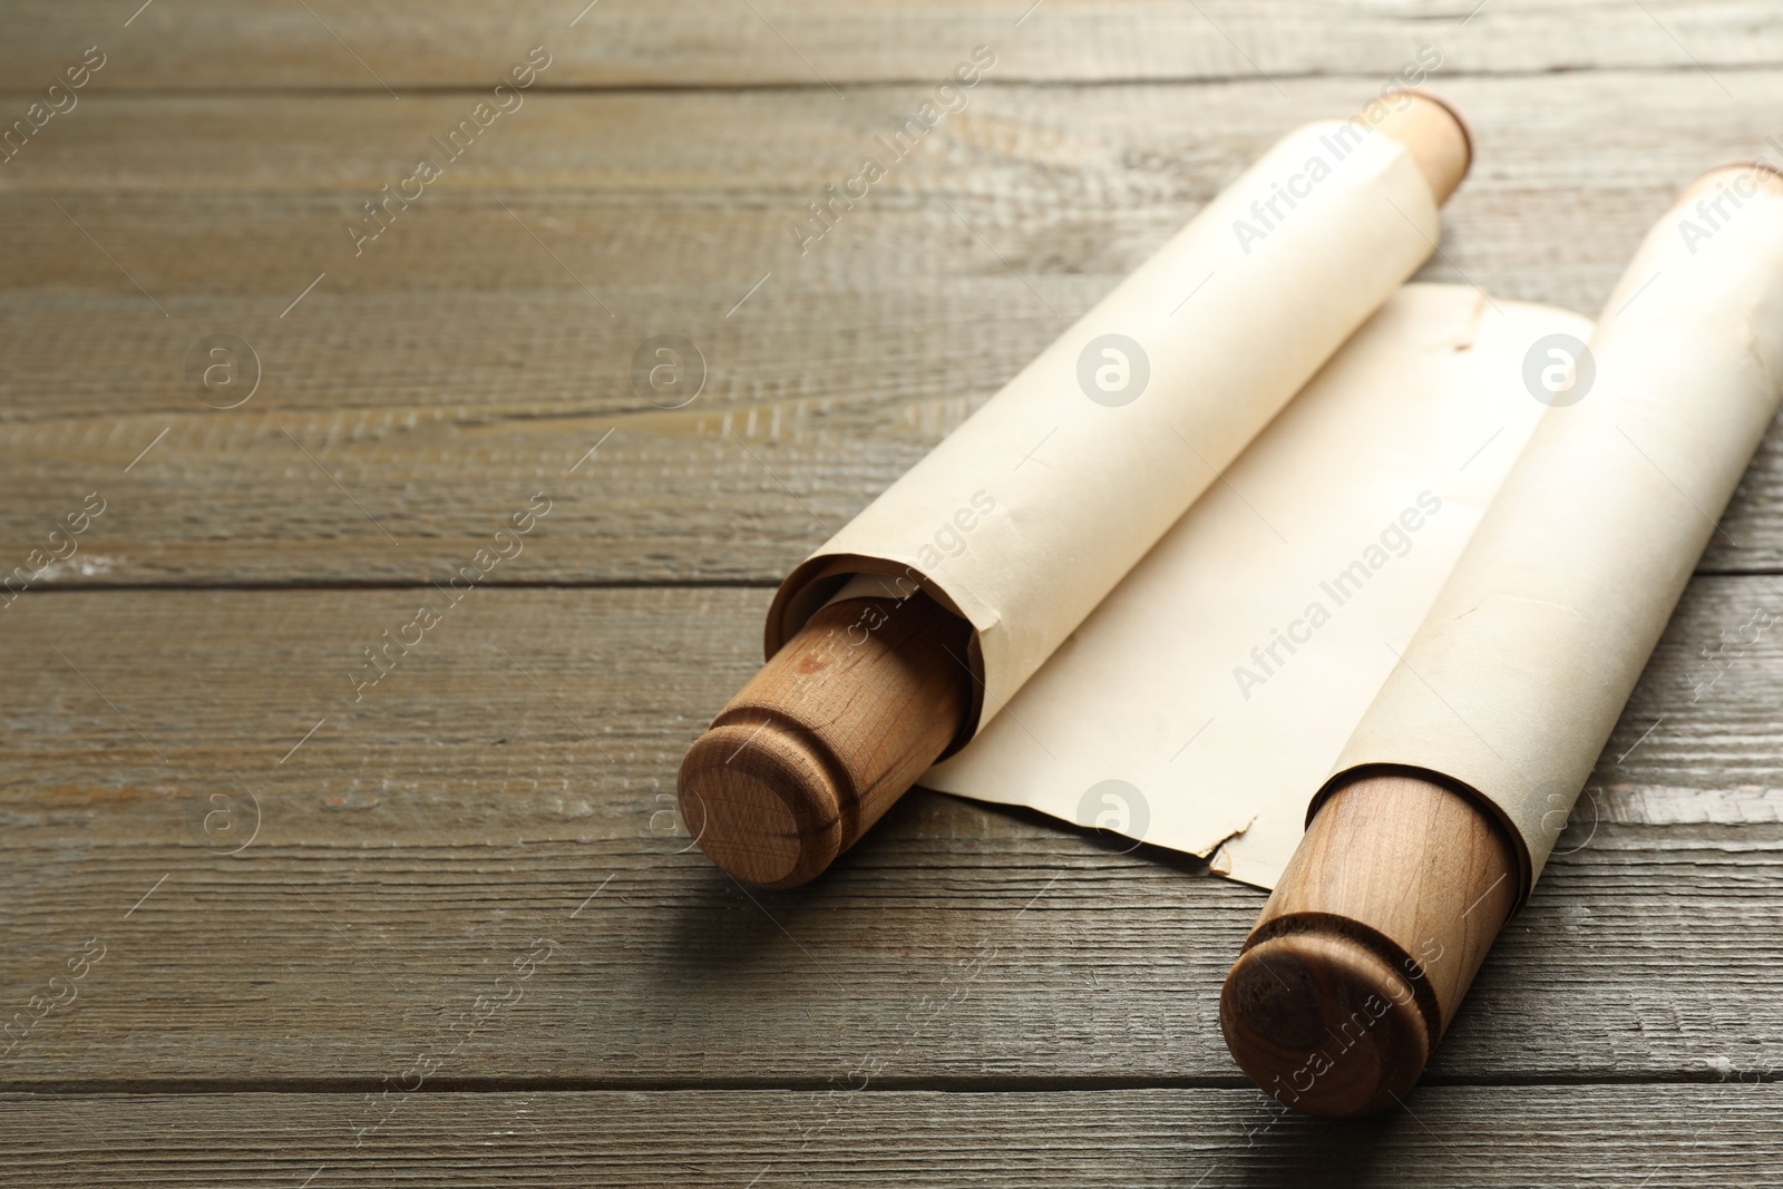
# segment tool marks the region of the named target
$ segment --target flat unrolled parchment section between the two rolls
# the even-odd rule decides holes
[[[1403,287],[922,784],[1175,850],[1225,841],[1216,870],[1273,886],[1537,424],[1519,371],[1557,332],[1590,323]]]

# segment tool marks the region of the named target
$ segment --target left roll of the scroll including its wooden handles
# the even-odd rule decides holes
[[[799,565],[768,665],[681,767],[706,854],[804,882],[997,727],[1435,250],[1466,168],[1458,119],[1425,96],[1289,134]]]

